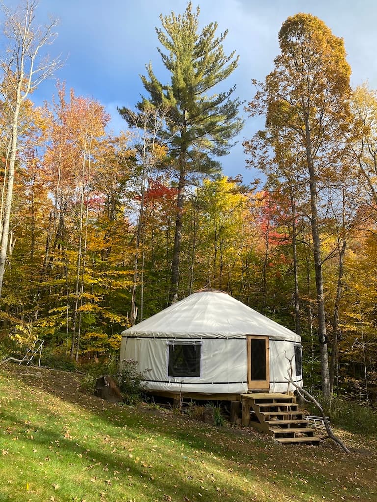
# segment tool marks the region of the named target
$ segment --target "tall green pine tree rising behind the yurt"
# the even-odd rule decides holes
[[[183,220],[185,186],[190,173],[209,172],[218,167],[213,156],[228,153],[232,138],[239,133],[243,120],[238,117],[239,100],[228,91],[215,86],[223,82],[237,66],[234,52],[227,56],[223,41],[227,32],[216,37],[217,23],[199,31],[199,7],[196,12],[189,2],[183,15],[160,16],[162,29],[156,29],[163,48],[158,49],[162,62],[171,73],[168,84],[155,76],[152,65],[142,81],[149,97],[138,103],[168,108],[165,136],[171,137],[171,167],[177,178],[177,200],[174,248],[171,266],[170,303],[178,294],[179,252]],[[122,110],[120,110],[122,113]],[[166,135],[166,132],[168,133]]]

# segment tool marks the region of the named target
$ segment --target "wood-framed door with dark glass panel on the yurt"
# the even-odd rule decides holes
[[[269,391],[268,336],[247,337],[247,384],[250,391]]]

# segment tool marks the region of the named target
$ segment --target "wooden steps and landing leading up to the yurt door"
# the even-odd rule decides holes
[[[241,401],[242,425],[252,425],[282,444],[319,444],[316,430],[303,418],[295,396],[252,393],[242,394]]]

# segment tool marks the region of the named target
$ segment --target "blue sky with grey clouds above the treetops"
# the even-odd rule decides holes
[[[16,5],[5,0],[6,5]],[[193,2],[196,7],[198,4]],[[377,87],[377,3],[374,0],[202,0],[200,22],[219,23],[219,33],[228,30],[227,53],[235,50],[239,65],[227,86],[236,84],[236,95],[250,101],[254,95],[251,79],[263,80],[278,54],[277,35],[288,16],[308,12],[322,19],[332,32],[344,39],[347,60],[352,67],[353,86],[368,81]],[[117,106],[133,107],[143,93],[140,74],[152,62],[161,81],[169,75],[156,50],[155,27],[159,14],[178,14],[185,0],[40,0],[37,17],[44,22],[49,15],[59,18],[59,36],[49,48],[52,56],[61,53],[66,63],[56,77],[73,88],[76,95],[98,99],[112,115],[111,128],[125,129]],[[35,94],[40,104],[49,101],[56,82],[43,83]],[[241,110],[242,113],[243,110]],[[246,116],[246,115],[245,115]],[[246,116],[238,144],[221,159],[224,173],[241,173],[251,181],[258,173],[245,168],[241,142],[250,138],[263,122]]]

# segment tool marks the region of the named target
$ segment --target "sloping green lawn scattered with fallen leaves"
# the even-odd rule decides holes
[[[377,501],[377,438],[281,446],[253,429],[117,406],[80,376],[0,363],[0,501]]]

